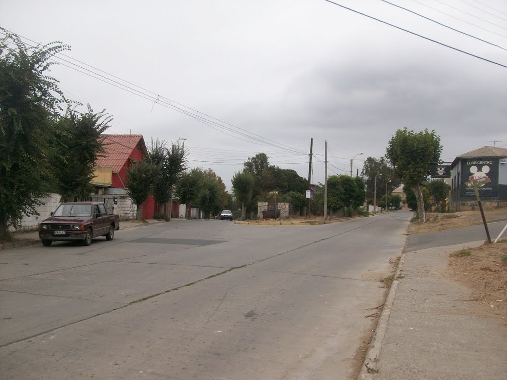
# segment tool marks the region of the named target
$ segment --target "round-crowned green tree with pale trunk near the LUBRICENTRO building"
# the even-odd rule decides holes
[[[440,161],[440,136],[427,129],[418,133],[399,129],[389,140],[386,157],[394,166],[396,175],[416,196],[419,221],[426,221],[421,183],[427,178],[431,163]]]

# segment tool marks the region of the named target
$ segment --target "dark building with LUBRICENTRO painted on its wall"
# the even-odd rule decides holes
[[[483,207],[507,206],[507,148],[483,146],[456,157],[451,164],[450,210],[474,210],[475,190],[466,182],[484,177],[488,183],[478,187]]]

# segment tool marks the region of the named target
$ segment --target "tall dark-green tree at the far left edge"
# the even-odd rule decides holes
[[[54,120],[65,97],[58,81],[48,75],[51,58],[69,47],[51,43],[27,47],[20,38],[0,28],[0,240],[23,214],[39,215],[50,176]],[[11,41],[15,47],[8,47]]]

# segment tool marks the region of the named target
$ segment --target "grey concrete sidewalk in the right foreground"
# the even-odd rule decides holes
[[[507,378],[507,325],[446,279],[449,253],[484,241],[406,252],[358,379]],[[376,372],[378,371],[378,372]]]

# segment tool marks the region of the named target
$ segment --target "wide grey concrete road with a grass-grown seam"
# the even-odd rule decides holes
[[[409,212],[0,252],[2,379],[346,379]]]

